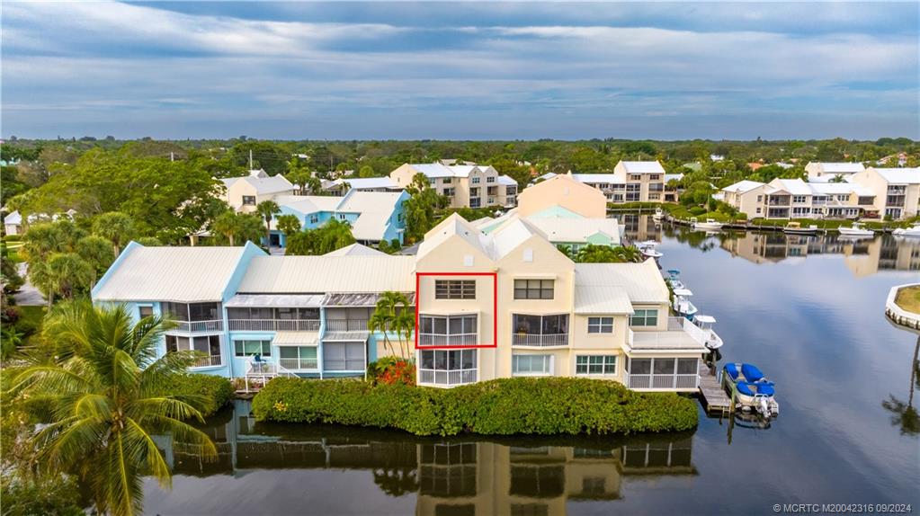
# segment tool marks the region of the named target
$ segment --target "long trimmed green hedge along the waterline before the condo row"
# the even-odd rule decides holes
[[[696,403],[584,378],[504,378],[437,389],[275,378],[253,399],[260,421],[333,423],[416,435],[627,434],[692,430]]]

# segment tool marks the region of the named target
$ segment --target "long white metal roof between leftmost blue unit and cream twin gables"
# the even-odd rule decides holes
[[[237,292],[414,292],[415,257],[256,257]]]

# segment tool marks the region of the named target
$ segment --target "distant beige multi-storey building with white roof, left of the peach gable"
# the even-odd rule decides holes
[[[390,179],[395,188],[406,189],[418,174],[450,200],[451,208],[508,208],[517,203],[517,181],[491,166],[407,163],[391,172]]]

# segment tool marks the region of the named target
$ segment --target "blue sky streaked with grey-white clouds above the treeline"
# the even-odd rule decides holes
[[[920,140],[920,3],[17,2],[0,135]]]

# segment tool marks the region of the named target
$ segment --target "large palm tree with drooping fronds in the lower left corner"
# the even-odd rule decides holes
[[[144,317],[132,323],[128,309],[60,306],[44,335],[57,346],[57,361],[36,359],[18,372],[10,395],[39,403],[48,425],[33,445],[48,471],[74,473],[93,493],[96,510],[115,516],[140,512],[142,476],[169,487],[171,476],[153,436],[200,444],[216,454],[207,435],[185,423],[201,418],[200,396],[171,396],[165,385],[195,361],[191,351],[157,359],[157,343],[169,323]]]

